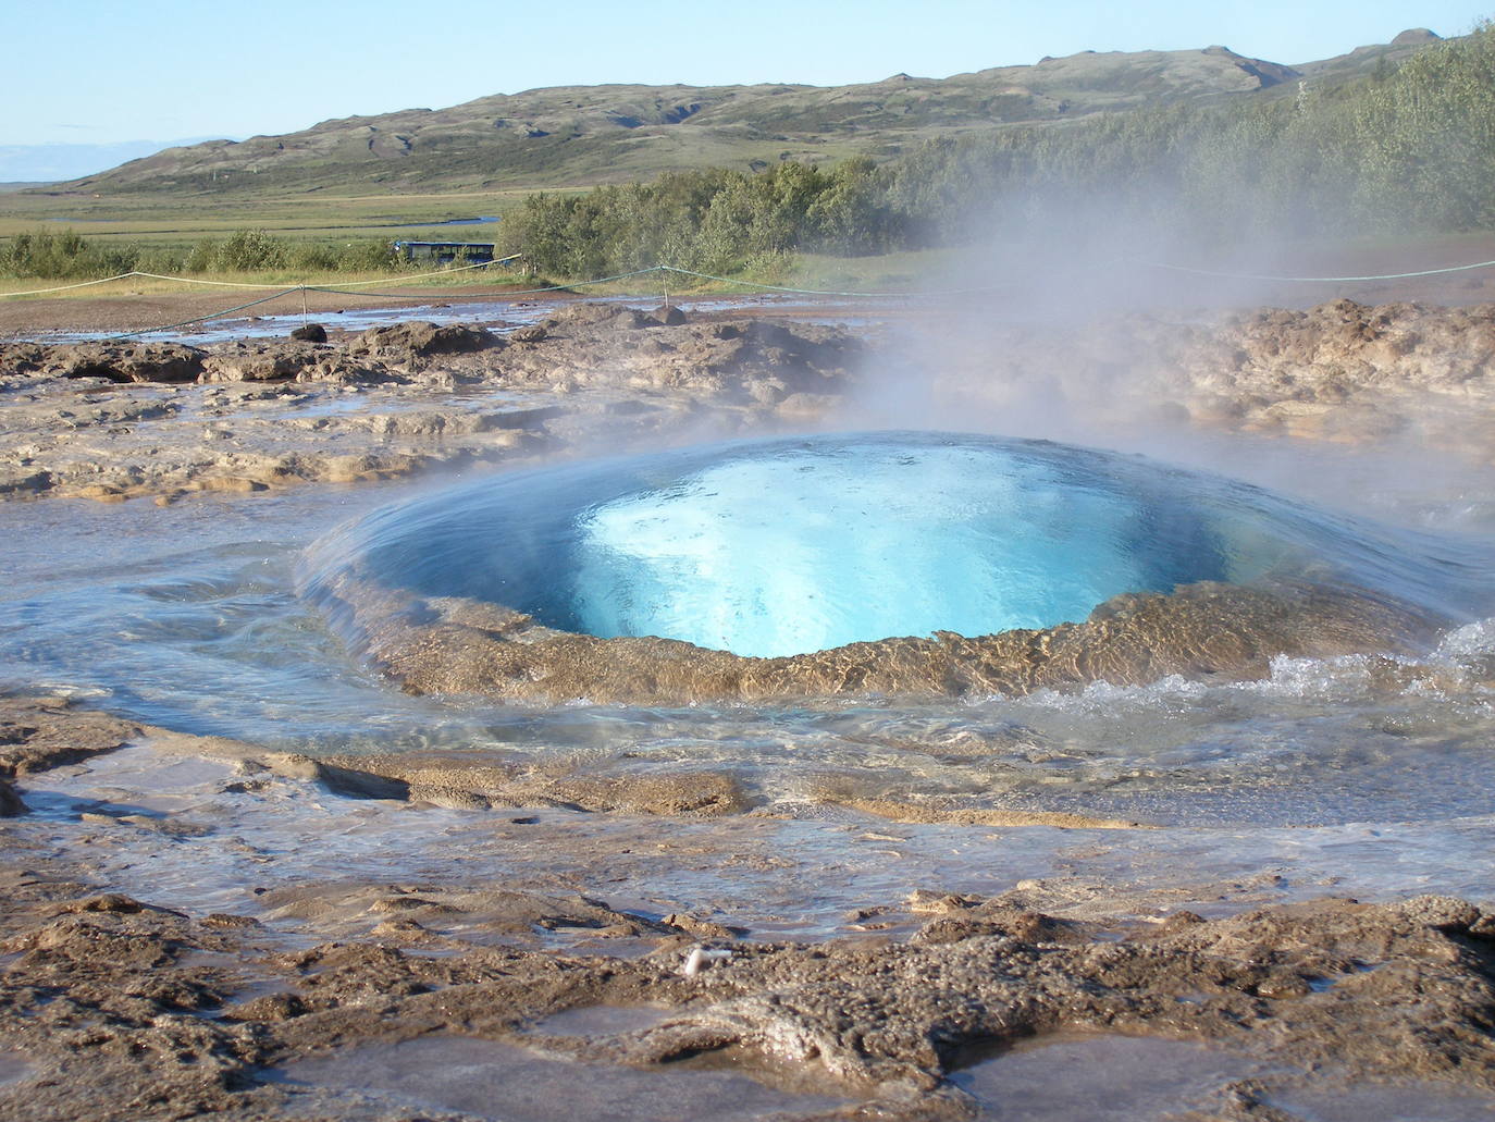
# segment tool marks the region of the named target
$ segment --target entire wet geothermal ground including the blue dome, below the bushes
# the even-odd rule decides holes
[[[1479,287],[0,305],[0,1116],[1495,1116]]]

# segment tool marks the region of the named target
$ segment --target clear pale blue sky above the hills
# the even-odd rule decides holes
[[[1301,63],[1491,13],[1495,0],[0,0],[0,145],[283,133],[538,85],[943,78],[1084,49],[1223,43]]]

